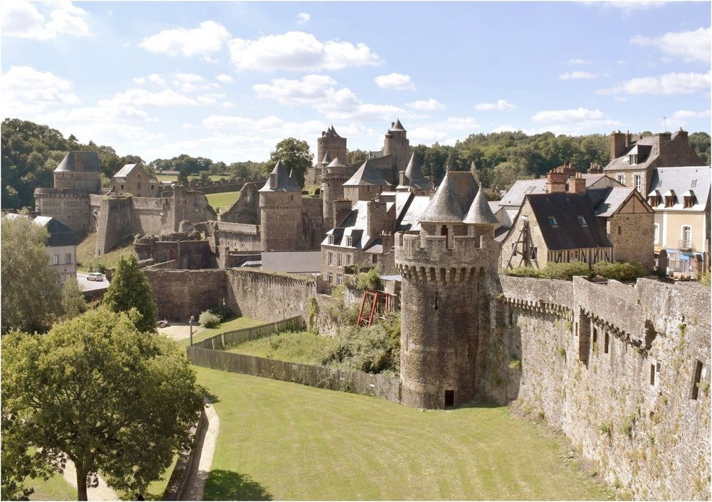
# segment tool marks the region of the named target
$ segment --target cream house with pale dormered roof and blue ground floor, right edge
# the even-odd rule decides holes
[[[648,203],[655,211],[654,249],[665,251],[669,273],[710,266],[710,167],[653,169]]]

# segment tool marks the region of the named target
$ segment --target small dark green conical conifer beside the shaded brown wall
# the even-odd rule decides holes
[[[103,303],[114,312],[128,312],[135,308],[141,314],[141,318],[136,320],[136,328],[140,331],[156,330],[153,291],[135,256],[120,258]]]

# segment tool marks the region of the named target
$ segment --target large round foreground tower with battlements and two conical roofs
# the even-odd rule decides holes
[[[395,236],[401,292],[402,402],[456,407],[475,396],[488,283],[497,273],[495,219],[470,172],[449,172],[420,219]],[[482,204],[484,202],[484,204]]]

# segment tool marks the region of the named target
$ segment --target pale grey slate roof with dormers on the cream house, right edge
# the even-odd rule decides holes
[[[661,194],[664,194],[668,190],[672,190],[679,194],[674,206],[666,208],[665,201],[661,198],[661,204],[655,206],[655,209],[703,211],[710,198],[710,178],[709,166],[657,167],[653,169],[650,184],[651,191],[658,190]],[[682,194],[687,190],[694,192],[696,204],[691,208],[685,209]]]

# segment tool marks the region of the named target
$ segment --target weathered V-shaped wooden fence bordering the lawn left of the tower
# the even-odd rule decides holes
[[[303,327],[303,323],[300,317],[290,318],[278,323],[216,335],[187,347],[188,359],[194,365],[213,370],[295,382],[320,389],[366,394],[393,402],[401,401],[400,380],[397,377],[384,377],[327,366],[304,365],[221,350],[226,346],[261,338],[277,331],[300,328]]]

